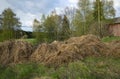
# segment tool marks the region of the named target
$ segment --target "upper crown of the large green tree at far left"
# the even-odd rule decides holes
[[[5,9],[2,12],[1,17],[3,29],[14,29],[14,27],[20,27],[21,23],[12,9]]]

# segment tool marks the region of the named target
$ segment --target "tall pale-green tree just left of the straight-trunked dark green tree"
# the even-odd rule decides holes
[[[92,5],[90,0],[79,0],[73,24],[75,35],[80,36],[89,33],[90,24],[93,21]]]

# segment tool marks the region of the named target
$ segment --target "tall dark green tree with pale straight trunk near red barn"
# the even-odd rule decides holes
[[[103,7],[103,3],[100,0],[96,0],[94,2],[94,10],[93,10],[93,16],[94,16],[94,21],[96,21],[96,25],[94,33],[101,36],[101,21],[105,20],[105,16],[104,16],[104,7]]]

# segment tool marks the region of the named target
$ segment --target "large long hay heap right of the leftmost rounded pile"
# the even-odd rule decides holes
[[[30,59],[47,66],[59,66],[88,56],[108,56],[110,48],[94,35],[73,37],[64,42],[41,44]]]

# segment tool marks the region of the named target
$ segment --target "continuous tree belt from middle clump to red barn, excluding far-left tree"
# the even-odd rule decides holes
[[[51,14],[33,22],[34,36],[39,42],[65,40],[72,36],[109,35],[107,25],[113,22],[113,0],[79,0],[77,8],[67,7],[61,14]]]

